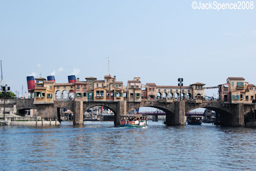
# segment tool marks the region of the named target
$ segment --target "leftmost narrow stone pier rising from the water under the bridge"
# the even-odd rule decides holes
[[[83,124],[83,101],[75,101],[73,111],[73,124]]]

